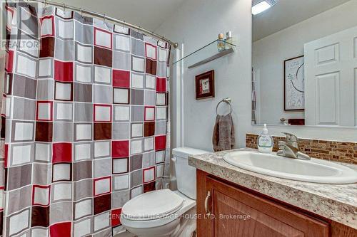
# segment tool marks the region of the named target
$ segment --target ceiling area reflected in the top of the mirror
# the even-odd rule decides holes
[[[253,16],[253,41],[258,41],[347,1],[350,0],[279,0],[270,9]]]

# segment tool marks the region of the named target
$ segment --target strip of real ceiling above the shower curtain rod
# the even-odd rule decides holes
[[[64,0],[64,3],[155,31],[184,1],[186,0]]]

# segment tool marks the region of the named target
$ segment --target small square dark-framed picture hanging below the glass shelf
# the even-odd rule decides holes
[[[196,100],[214,97],[214,70],[196,75]]]

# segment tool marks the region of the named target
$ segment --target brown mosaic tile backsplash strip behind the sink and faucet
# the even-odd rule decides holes
[[[246,147],[258,149],[256,139],[258,135],[246,134]],[[278,141],[285,137],[273,137],[273,151],[278,151]],[[333,162],[344,162],[357,164],[357,143],[336,142],[316,139],[299,139],[299,147],[302,152],[313,158],[331,160]]]

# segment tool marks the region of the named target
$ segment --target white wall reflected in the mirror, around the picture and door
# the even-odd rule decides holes
[[[303,112],[283,110],[283,60],[302,56],[304,43],[357,26],[356,9],[357,1],[348,1],[253,43],[252,65],[260,71],[259,123],[304,117]]]

